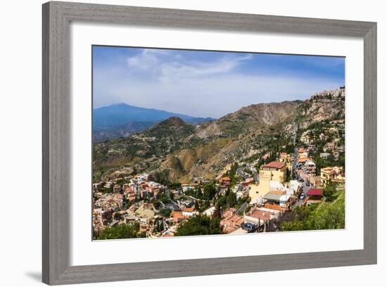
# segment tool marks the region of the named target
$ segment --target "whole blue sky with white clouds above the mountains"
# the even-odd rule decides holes
[[[93,46],[94,108],[114,103],[221,117],[345,84],[345,58]]]

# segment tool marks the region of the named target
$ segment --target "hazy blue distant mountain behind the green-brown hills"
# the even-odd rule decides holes
[[[142,132],[170,117],[179,117],[189,124],[212,121],[210,117],[191,117],[153,108],[140,108],[126,103],[96,108],[93,110],[94,140],[115,139]]]

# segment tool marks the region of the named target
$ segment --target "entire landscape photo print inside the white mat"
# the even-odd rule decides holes
[[[345,228],[345,58],[92,46],[92,238]]]

